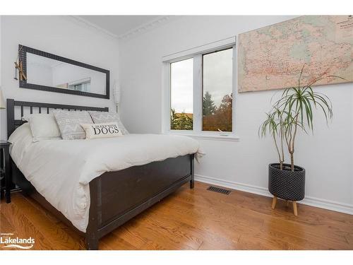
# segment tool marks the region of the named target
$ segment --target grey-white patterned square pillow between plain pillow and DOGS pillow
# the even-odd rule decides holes
[[[88,112],[68,110],[53,110],[56,123],[59,126],[61,137],[64,140],[85,139],[86,134],[81,123],[92,123]]]

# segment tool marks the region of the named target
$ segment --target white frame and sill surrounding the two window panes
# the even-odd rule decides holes
[[[203,54],[217,52],[224,49],[233,49],[233,78],[232,78],[232,131],[203,131],[203,87],[202,87],[202,57]],[[170,129],[170,64],[193,58],[193,130],[172,130]],[[163,57],[163,83],[162,83],[162,133],[179,134],[195,137],[198,139],[238,141],[235,134],[235,100],[236,100],[236,43],[235,37],[231,37],[208,45],[202,45],[193,49],[188,49],[177,54]]]

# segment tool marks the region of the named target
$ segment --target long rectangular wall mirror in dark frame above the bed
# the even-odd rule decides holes
[[[27,80],[20,88],[109,99],[109,71],[18,45]]]

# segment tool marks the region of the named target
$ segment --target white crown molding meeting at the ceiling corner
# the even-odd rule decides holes
[[[136,28],[132,28],[131,30],[128,30],[126,33],[123,33],[121,35],[116,35],[110,32],[109,30],[106,30],[100,27],[99,25],[96,25],[95,23],[92,23],[80,16],[66,16],[66,17],[69,20],[71,20],[71,22],[81,25],[85,28],[90,28],[91,30],[95,30],[96,33],[100,33],[106,37],[110,37],[115,40],[126,40],[130,37],[134,37],[142,33],[146,33],[149,30],[152,30],[154,28],[159,27],[160,25],[163,25],[164,23],[169,22],[169,20],[173,20],[174,18],[179,18],[180,16],[159,16],[158,18],[155,18],[146,23],[143,23]]]

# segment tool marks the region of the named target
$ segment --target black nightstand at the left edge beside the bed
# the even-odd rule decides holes
[[[0,174],[0,192],[1,197],[5,192],[6,204],[11,202],[11,187],[13,187],[12,183],[12,175],[11,175],[11,164],[10,164],[10,153],[9,146],[11,143],[8,141],[0,140],[0,148],[1,148],[1,174]]]

